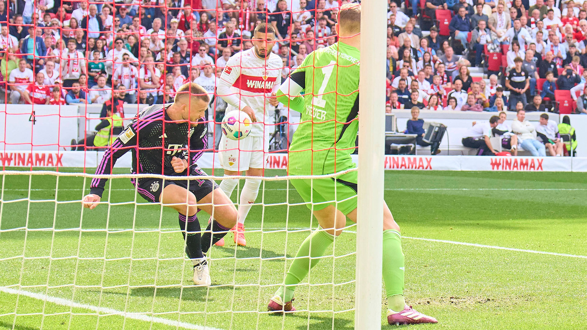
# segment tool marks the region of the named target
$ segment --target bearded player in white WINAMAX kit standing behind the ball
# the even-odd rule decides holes
[[[252,36],[253,47],[236,53],[226,63],[226,68],[218,80],[217,93],[228,103],[226,113],[241,110],[253,122],[251,133],[242,140],[227,139],[222,135],[220,140],[220,164],[224,169],[224,180],[220,188],[227,194],[238,184],[238,176],[247,171],[247,176],[261,177],[269,149],[269,133],[274,126],[265,126],[268,110],[274,109],[279,102],[272,97],[281,83],[281,58],[272,53],[275,45],[275,30],[271,25],[261,23],[255,28]],[[272,123],[268,123],[272,124]],[[271,131],[271,132],[270,132]],[[234,241],[238,245],[246,245],[244,223],[252,204],[259,194],[261,179],[245,179],[242,186],[238,206],[238,225],[233,228]],[[224,245],[224,240],[218,245]]]

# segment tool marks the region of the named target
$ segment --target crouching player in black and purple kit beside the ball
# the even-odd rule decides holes
[[[96,174],[110,174],[116,160],[130,150],[133,153],[133,173],[178,178],[205,176],[195,162],[208,144],[204,123],[208,100],[203,87],[186,83],[177,90],[173,103],[144,108],[104,152]],[[92,180],[90,194],[82,200],[84,207],[91,210],[98,205],[106,181]],[[185,252],[194,265],[194,283],[210,285],[210,271],[204,253],[237,223],[237,209],[230,198],[217,189],[212,180],[141,177],[130,181],[147,201],[162,203],[179,213]],[[204,234],[200,233],[198,208],[209,214],[214,210],[215,221],[208,224]],[[217,233],[222,231],[224,233]]]

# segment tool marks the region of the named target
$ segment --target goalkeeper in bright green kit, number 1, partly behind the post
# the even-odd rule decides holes
[[[279,102],[302,113],[289,148],[290,175],[333,174],[355,167],[350,153],[355,150],[359,114],[360,4],[342,5],[335,28],[340,41],[309,54],[277,92]],[[296,285],[342,233],[346,217],[357,220],[356,171],[326,179],[295,179],[291,183],[308,203],[319,227],[300,246],[284,285],[269,301],[269,311],[295,311],[292,299]],[[414,311],[404,301],[404,255],[400,237],[400,228],[384,204],[383,280],[389,307],[387,321],[389,324],[436,323],[435,318]]]

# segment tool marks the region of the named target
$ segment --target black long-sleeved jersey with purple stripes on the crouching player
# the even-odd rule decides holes
[[[190,168],[194,167],[208,146],[207,125],[203,119],[191,129],[187,122],[173,122],[166,112],[172,104],[152,105],[141,110],[114,140],[112,146],[106,149],[96,174],[112,173],[116,160],[130,150],[133,154],[133,173],[187,176],[190,169],[176,173],[171,166],[171,159],[183,157],[190,164]],[[102,196],[107,180],[93,179],[90,193]]]

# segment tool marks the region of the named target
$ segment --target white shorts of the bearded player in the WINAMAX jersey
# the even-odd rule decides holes
[[[264,169],[269,151],[269,137],[247,136],[235,141],[222,134],[218,150],[222,169],[228,171]]]

